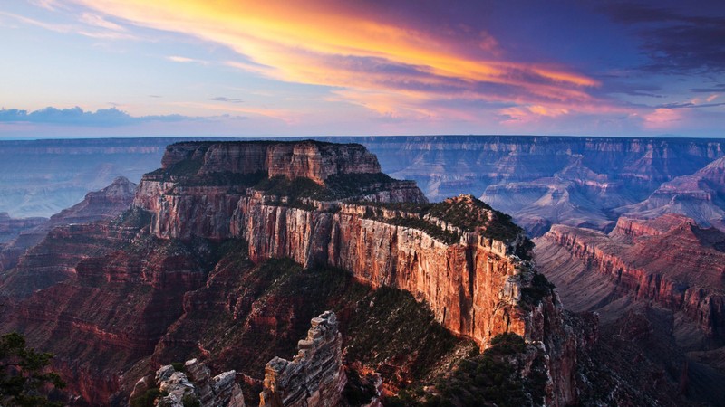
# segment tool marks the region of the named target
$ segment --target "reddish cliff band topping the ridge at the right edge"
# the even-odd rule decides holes
[[[722,339],[725,234],[671,214],[654,221],[621,218],[609,235],[556,225],[538,243],[541,252],[560,247],[585,261],[611,282],[611,292],[681,311]]]

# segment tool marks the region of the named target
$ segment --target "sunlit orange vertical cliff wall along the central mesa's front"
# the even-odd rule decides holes
[[[367,209],[305,211],[249,198],[241,201],[232,231],[249,242],[252,260],[331,265],[372,287],[409,291],[440,324],[481,346],[503,332],[527,335],[517,309],[527,268],[507,256],[505,244],[472,233],[447,244],[415,228],[365,219]]]

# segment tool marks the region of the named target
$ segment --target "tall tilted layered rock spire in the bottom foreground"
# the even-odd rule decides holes
[[[341,404],[347,382],[343,338],[337,317],[326,311],[312,319],[291,361],[275,357],[265,369],[260,407],[333,407]]]

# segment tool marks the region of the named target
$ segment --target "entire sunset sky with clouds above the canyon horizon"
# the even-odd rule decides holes
[[[725,137],[725,2],[3,0],[0,138]]]

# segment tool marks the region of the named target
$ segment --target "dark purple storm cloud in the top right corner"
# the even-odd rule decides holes
[[[640,37],[641,49],[649,60],[643,69],[662,73],[723,72],[725,17],[721,16],[720,5],[707,5],[701,14],[694,14],[697,7],[693,7],[694,11],[676,10],[633,2],[607,3],[602,10]]]

